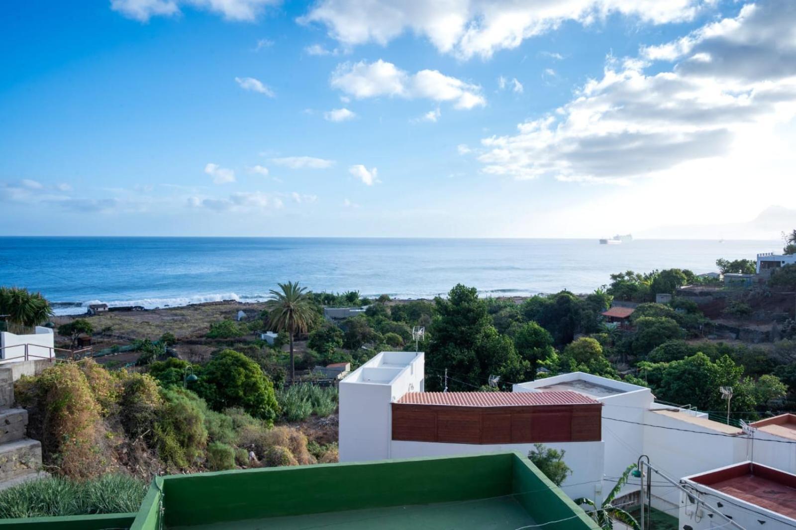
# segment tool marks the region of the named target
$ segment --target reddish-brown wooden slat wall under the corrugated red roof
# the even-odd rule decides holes
[[[453,407],[392,403],[392,439],[444,443],[599,442],[602,405]]]

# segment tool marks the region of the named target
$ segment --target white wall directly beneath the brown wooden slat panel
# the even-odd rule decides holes
[[[572,469],[561,489],[572,499],[578,497],[598,498],[602,503],[603,493],[603,442],[544,443],[545,447],[564,450],[564,462]],[[519,451],[528,454],[533,443],[471,444],[438,442],[392,441],[392,458],[414,458],[423,456],[447,456],[454,454],[482,454],[498,451]],[[583,483],[586,484],[583,484]],[[606,485],[611,489],[611,485]]]

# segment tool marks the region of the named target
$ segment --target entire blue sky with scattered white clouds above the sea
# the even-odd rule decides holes
[[[529,3],[10,3],[0,234],[776,235],[789,2]]]

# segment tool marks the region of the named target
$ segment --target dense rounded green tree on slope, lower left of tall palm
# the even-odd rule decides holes
[[[202,368],[196,392],[216,411],[241,407],[268,423],[279,417],[274,385],[243,353],[225,349]]]

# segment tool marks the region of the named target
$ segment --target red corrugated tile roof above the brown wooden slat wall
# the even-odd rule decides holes
[[[600,402],[578,392],[564,390],[560,392],[407,392],[398,403],[458,407],[528,407]]]

